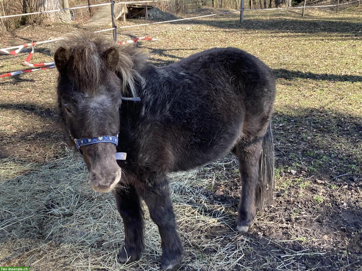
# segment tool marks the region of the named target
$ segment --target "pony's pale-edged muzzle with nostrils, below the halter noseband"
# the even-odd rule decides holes
[[[107,193],[121,180],[121,174],[121,168],[118,168],[116,171],[105,172],[92,169],[89,171],[88,180],[94,191]]]

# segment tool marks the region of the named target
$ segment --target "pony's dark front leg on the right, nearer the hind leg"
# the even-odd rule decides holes
[[[176,231],[168,177],[158,175],[148,181],[151,185],[147,186],[142,197],[148,206],[153,222],[159,228],[162,248],[161,266],[164,269],[173,270],[182,261],[184,246]]]

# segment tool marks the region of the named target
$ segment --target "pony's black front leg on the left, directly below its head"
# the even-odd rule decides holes
[[[141,257],[144,249],[143,212],[140,198],[132,185],[115,188],[113,193],[125,228],[125,243],[118,252],[117,258],[119,263],[134,262]]]

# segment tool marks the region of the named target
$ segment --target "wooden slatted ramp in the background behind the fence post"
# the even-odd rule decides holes
[[[115,3],[114,15],[117,21],[119,17],[122,17],[122,22],[126,21],[127,7],[126,4]],[[92,18],[87,22],[88,25],[109,25],[112,26],[111,6],[101,6]]]

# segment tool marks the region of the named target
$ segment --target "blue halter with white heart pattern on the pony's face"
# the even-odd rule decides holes
[[[122,97],[122,100],[139,102],[141,99],[139,97],[134,97],[134,98]],[[100,137],[94,137],[94,138],[81,138],[81,139],[73,138],[73,140],[74,140],[75,146],[79,150],[80,154],[82,154],[82,151],[80,150],[81,146],[87,146],[87,145],[104,143],[104,142],[112,143],[115,146],[117,146],[118,145],[118,134],[119,133],[117,133],[117,136],[100,136]],[[115,154],[115,159],[116,160],[126,160],[126,156],[127,156],[126,152],[117,152]]]

